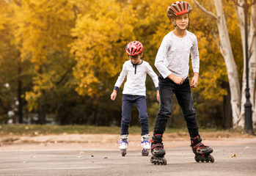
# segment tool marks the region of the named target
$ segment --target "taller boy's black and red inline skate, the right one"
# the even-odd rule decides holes
[[[202,139],[200,138],[200,136],[195,137],[194,139],[191,138],[191,145],[190,147],[192,148],[195,156],[194,156],[194,160],[197,162],[209,162],[211,161],[211,163],[214,162],[214,158],[212,155],[210,155],[210,153],[213,152],[213,149],[209,146],[205,146],[204,144],[202,144]]]

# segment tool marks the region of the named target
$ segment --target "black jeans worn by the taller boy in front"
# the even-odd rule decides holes
[[[171,79],[158,76],[160,109],[156,117],[154,134],[163,134],[167,125],[167,120],[172,114],[172,97],[175,93],[180,108],[182,109],[184,120],[191,137],[196,137],[198,133],[196,110],[194,109],[194,100],[191,94],[189,78],[183,84],[175,84]]]

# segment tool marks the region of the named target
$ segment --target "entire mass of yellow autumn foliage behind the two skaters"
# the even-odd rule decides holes
[[[34,65],[32,92],[26,93],[31,108],[43,90],[56,88],[68,69],[79,95],[100,95],[112,89],[123,62],[128,59],[125,45],[139,40],[144,56],[153,66],[164,35],[172,31],[167,18],[167,0],[13,0],[0,1],[0,65],[7,48],[18,49],[23,60]],[[212,1],[200,1],[214,12]],[[205,15],[194,1],[190,29],[197,36],[200,51],[200,83],[205,99],[226,95],[221,84],[227,70],[217,40],[216,21]],[[224,4],[238,70],[242,70],[241,38],[232,6]],[[7,43],[5,41],[10,41]],[[9,52],[9,51],[8,51]],[[156,68],[153,66],[153,69]],[[157,70],[156,70],[157,72]],[[192,73],[190,74],[192,76]],[[70,78],[72,79],[72,78]]]

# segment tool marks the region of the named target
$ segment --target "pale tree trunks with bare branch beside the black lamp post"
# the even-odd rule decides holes
[[[196,0],[194,0],[196,1]],[[226,18],[224,16],[224,8],[222,7],[222,1],[221,0],[214,0],[215,3],[215,7],[216,7],[216,12],[217,12],[217,16],[214,15],[212,12],[209,12],[208,10],[206,10],[204,7],[202,7],[198,1],[196,1],[197,4],[199,5],[199,7],[205,11],[206,13],[208,13],[208,15],[213,16],[218,24],[219,27],[219,37],[220,37],[220,50],[222,51],[222,56],[224,56],[226,65],[227,65],[227,72],[230,72],[230,75],[228,76],[229,78],[229,84],[230,84],[230,91],[231,91],[231,104],[232,104],[232,109],[233,109],[233,127],[234,128],[239,128],[239,127],[244,127],[244,103],[245,103],[245,71],[244,71],[244,75],[243,75],[243,86],[242,86],[242,93],[241,93],[241,87],[239,84],[239,80],[238,80],[238,73],[237,73],[237,67],[235,65],[234,59],[233,59],[233,53],[232,53],[232,49],[231,49],[231,44],[230,44],[230,39],[229,39],[229,34],[227,32],[227,22],[226,22]],[[236,12],[237,12],[237,16],[238,16],[238,21],[240,24],[240,31],[241,31],[241,37],[242,37],[242,43],[244,46],[244,21],[242,20],[244,17],[244,13],[241,10],[241,8],[239,8],[239,6],[241,6],[241,4],[244,1],[236,1],[235,5],[236,5]],[[251,46],[249,48],[249,69],[250,69],[250,74],[249,74],[249,79],[251,81],[249,81],[249,87],[250,87],[250,92],[251,92],[251,102],[254,103],[253,98],[255,96],[254,95],[254,91],[255,91],[255,49],[253,49],[253,45],[255,45],[255,2],[251,1],[252,3],[252,11],[251,11],[251,23],[250,23],[250,32],[249,32],[249,45]],[[240,4],[240,5],[239,5]],[[230,3],[227,3],[227,9],[230,10]],[[227,52],[229,51],[229,52]],[[243,47],[243,51],[245,52],[245,49]],[[245,54],[244,54],[244,65],[245,65]],[[230,70],[230,71],[229,71]],[[253,83],[253,84],[252,84]],[[255,107],[253,105],[253,107]]]

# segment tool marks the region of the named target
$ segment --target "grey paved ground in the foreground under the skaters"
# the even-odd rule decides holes
[[[166,148],[167,165],[150,164],[150,156],[131,149],[54,149],[0,151],[0,175],[256,175],[256,139],[205,141],[213,147],[214,163],[194,161],[187,142]],[[232,158],[232,155],[236,157]]]

